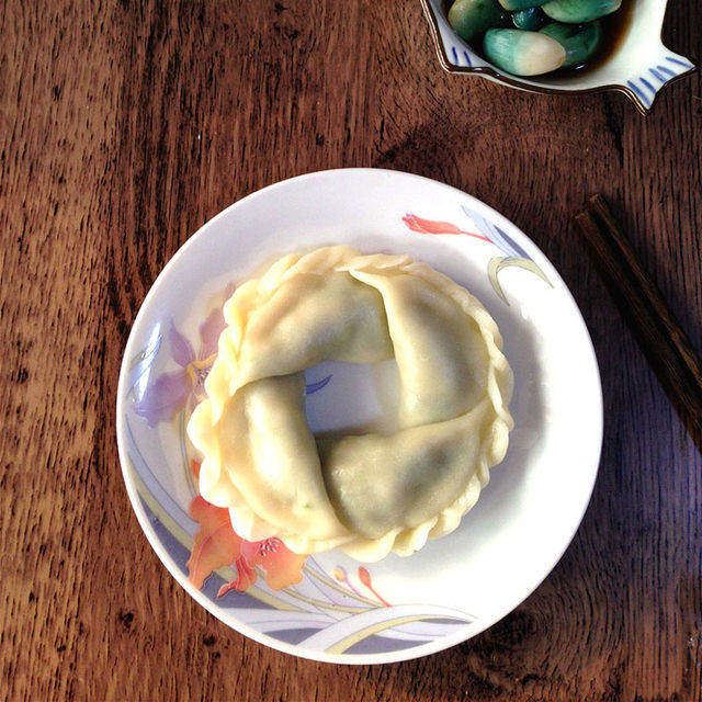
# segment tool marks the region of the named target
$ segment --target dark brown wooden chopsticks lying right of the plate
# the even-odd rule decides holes
[[[622,316],[702,452],[702,361],[601,195],[576,215]]]

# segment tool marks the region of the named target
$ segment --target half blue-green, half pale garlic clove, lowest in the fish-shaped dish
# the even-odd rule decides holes
[[[514,76],[548,73],[566,60],[566,49],[540,32],[488,30],[483,48],[492,64]]]

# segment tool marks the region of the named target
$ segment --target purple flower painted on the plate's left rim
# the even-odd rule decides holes
[[[189,401],[192,408],[204,397],[205,378],[217,355],[217,340],[225,326],[222,308],[213,309],[200,325],[200,352],[195,353],[193,344],[170,320],[168,341],[180,369],[159,375],[134,406],[134,411],[146,419],[149,427],[170,421]]]

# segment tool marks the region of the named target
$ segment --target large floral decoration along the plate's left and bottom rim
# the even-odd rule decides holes
[[[225,298],[233,292],[229,287]],[[188,445],[186,417],[202,398],[206,373],[216,356],[216,339],[224,329],[222,305],[200,326],[200,351],[171,320],[168,343],[162,336],[143,349],[131,367],[133,421],[150,429],[165,424]],[[149,382],[152,366],[165,347],[177,370],[166,371]],[[214,351],[213,351],[214,349]],[[145,382],[146,378],[146,382]],[[331,375],[307,386],[307,394],[322,390]],[[373,585],[371,571],[359,566],[348,573],[336,565],[327,573],[312,556],[294,554],[279,539],[249,542],[236,534],[228,510],[215,507],[196,491],[200,465],[190,458],[192,499],[188,514],[174,510],[129,431],[131,469],[143,507],[157,532],[177,554],[179,568],[193,587],[213,604],[236,610],[237,618],[262,634],[285,643],[304,644],[331,654],[369,654],[411,648],[452,633],[473,616],[448,608],[393,607]],[[148,485],[158,485],[158,489]],[[161,492],[161,499],[157,496]],[[166,498],[166,499],[163,499]],[[262,575],[262,578],[259,577]],[[282,616],[281,612],[285,614]]]

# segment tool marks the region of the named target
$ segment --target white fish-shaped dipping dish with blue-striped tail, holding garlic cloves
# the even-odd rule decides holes
[[[626,13],[626,24],[603,60],[596,58],[580,70],[567,69],[529,78],[507,73],[476,54],[449,24],[442,0],[421,2],[439,60],[452,73],[477,75],[503,86],[541,93],[619,90],[639,112],[648,114],[664,86],[695,70],[688,58],[673,54],[663,44],[666,2],[661,0],[624,0],[619,12]]]

